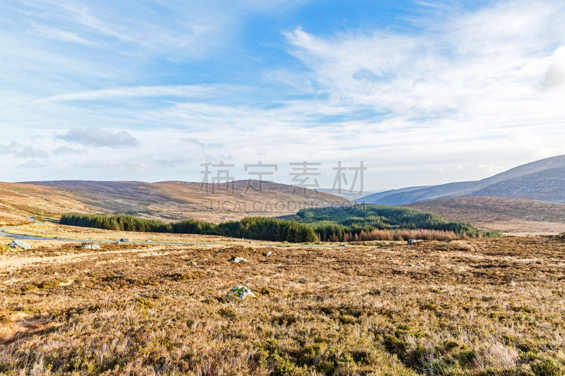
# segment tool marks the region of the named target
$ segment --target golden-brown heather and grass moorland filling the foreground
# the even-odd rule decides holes
[[[561,238],[2,253],[12,261],[0,267],[8,374],[565,372]],[[227,297],[238,285],[257,298]]]

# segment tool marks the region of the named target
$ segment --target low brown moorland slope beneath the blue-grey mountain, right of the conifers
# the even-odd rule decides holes
[[[434,212],[452,221],[506,234],[560,234],[565,231],[565,204],[501,197],[448,198],[403,205]]]

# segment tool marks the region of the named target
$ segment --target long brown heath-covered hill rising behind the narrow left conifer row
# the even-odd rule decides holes
[[[130,214],[148,219],[222,222],[246,216],[279,217],[306,207],[350,200],[286,184],[235,181],[230,187],[185,181],[30,181],[0,183],[0,222],[65,212]],[[13,217],[16,215],[16,217]],[[6,219],[2,219],[6,217]]]

